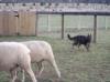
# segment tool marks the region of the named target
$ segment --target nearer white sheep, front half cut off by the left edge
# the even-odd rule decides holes
[[[30,50],[26,45],[18,42],[0,42],[0,71],[8,71],[11,73],[11,81],[16,79],[16,69],[21,68],[32,79],[37,82],[31,69]]]

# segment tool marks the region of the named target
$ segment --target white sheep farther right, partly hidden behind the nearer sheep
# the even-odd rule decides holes
[[[44,66],[43,61],[47,61],[55,69],[58,78],[61,78],[61,72],[55,62],[53,50],[50,43],[46,41],[26,41],[22,42],[31,50],[31,61],[36,63],[38,66],[38,76],[42,74]]]

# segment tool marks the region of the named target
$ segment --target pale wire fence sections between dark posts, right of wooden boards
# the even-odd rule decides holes
[[[64,19],[62,14],[37,14],[37,17],[38,37],[62,38],[64,34],[64,38],[67,38],[67,33],[72,35],[91,33],[94,37],[96,31],[98,34],[110,29],[109,16],[65,14]]]

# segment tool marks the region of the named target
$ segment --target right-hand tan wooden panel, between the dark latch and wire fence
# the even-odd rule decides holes
[[[36,16],[33,12],[20,12],[20,34],[35,35],[35,20]]]

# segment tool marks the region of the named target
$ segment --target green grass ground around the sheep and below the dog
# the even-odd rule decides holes
[[[45,40],[52,44],[62,78],[57,79],[54,69],[44,63],[45,70],[38,82],[110,82],[110,32],[98,32],[98,42],[91,43],[90,51],[85,48],[72,49],[67,39],[36,37],[1,37],[0,41]],[[34,66],[33,66],[34,69]],[[35,70],[35,69],[34,69]],[[21,79],[21,74],[19,75]],[[8,73],[0,72],[0,82],[9,82]],[[31,82],[26,76],[25,82]]]

